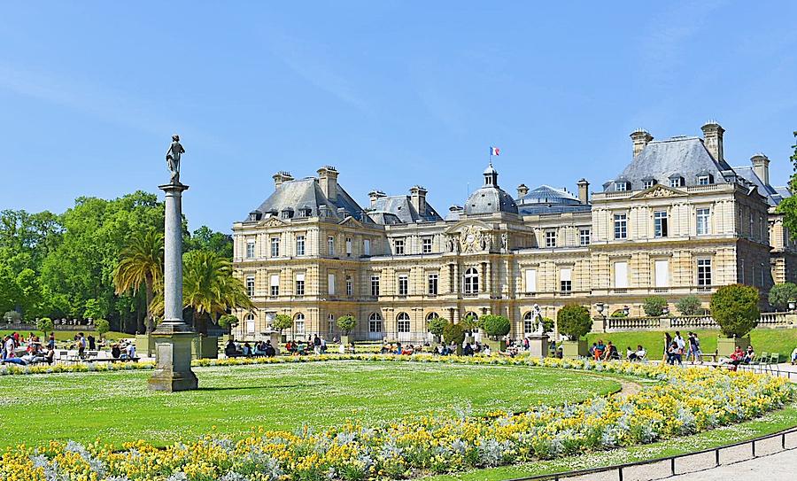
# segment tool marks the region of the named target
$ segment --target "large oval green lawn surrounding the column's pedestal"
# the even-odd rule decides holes
[[[163,445],[252,427],[368,425],[419,413],[522,410],[615,392],[611,377],[561,369],[329,361],[195,369],[200,390],[150,392],[151,371],[0,377],[0,447],[50,439]],[[31,429],[31,426],[36,426]]]

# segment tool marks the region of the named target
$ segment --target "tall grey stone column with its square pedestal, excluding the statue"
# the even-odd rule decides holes
[[[166,193],[164,226],[164,316],[154,332],[155,371],[151,390],[190,391],[197,389],[191,371],[191,341],[196,333],[182,320],[182,183],[160,185]]]

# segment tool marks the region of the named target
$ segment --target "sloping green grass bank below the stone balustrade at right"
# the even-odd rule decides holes
[[[681,336],[685,339],[689,330],[680,330]],[[668,331],[671,336],[675,335],[675,330]],[[700,337],[700,349],[704,353],[714,353],[716,351],[716,337],[719,330],[695,330]],[[664,351],[664,331],[633,331],[633,332],[611,332],[597,333],[592,332],[587,335],[590,345],[598,339],[603,342],[611,341],[617,346],[621,356],[625,356],[625,348],[631,346],[636,349],[641,344],[651,359],[659,359]],[[794,347],[797,347],[797,329],[756,329],[750,333],[750,342],[756,353],[780,353],[781,360],[785,359]]]

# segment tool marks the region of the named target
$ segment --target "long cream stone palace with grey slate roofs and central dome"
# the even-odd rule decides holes
[[[687,295],[708,305],[722,285],[765,293],[794,282],[797,245],[775,212],[791,193],[770,185],[765,155],[731,167],[723,128],[701,129],[663,140],[633,132],[631,162],[592,197],[584,179],[576,193],[521,184],[513,196],[490,165],[464,206],[443,214],[420,185],[374,190],[360,206],[335,167],[279,172],[274,192],[233,225],[236,275],[255,305],[236,313],[236,335],[260,337],[288,314],[289,336],[331,339],[352,314],[357,339],[422,342],[429,319],[502,314],[522,337],[535,305],[552,318],[569,303],[638,316],[650,296],[674,312]]]

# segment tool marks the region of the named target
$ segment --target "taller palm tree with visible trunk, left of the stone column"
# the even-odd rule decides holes
[[[116,293],[133,291],[144,285],[147,298],[147,332],[154,329],[151,309],[155,286],[163,278],[163,233],[150,229],[136,232],[128,246],[120,253],[119,265],[113,271],[113,285]]]

